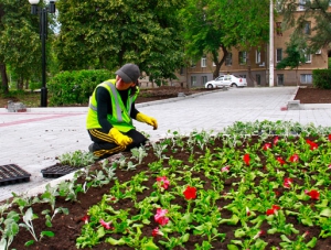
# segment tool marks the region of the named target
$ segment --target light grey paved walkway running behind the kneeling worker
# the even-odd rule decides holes
[[[331,105],[306,105],[301,110],[281,108],[292,100],[297,87],[237,88],[197,94],[137,105],[157,118],[159,129],[135,122],[138,130],[156,141],[168,131],[222,131],[235,121],[291,120],[302,124],[331,127]],[[30,182],[0,186],[0,200],[11,193],[25,193],[45,185],[41,170],[56,163],[56,156],[87,151],[90,144],[85,129],[87,108],[31,108],[28,112],[8,112],[0,108],[0,165],[17,164],[31,174]]]

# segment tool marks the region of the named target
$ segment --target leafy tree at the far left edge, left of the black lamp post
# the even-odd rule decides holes
[[[9,91],[8,66],[18,76],[23,87],[35,70],[41,68],[38,17],[30,12],[26,0],[0,0],[0,69],[2,89]]]

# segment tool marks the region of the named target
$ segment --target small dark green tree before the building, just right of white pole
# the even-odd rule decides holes
[[[299,85],[298,79],[298,68],[300,64],[306,62],[305,56],[305,48],[306,48],[305,41],[300,41],[299,39],[291,39],[290,43],[287,44],[286,47],[286,54],[287,56],[281,59],[279,63],[277,63],[276,68],[277,69],[284,69],[286,67],[289,67],[290,69],[296,68],[296,81],[297,85]]]

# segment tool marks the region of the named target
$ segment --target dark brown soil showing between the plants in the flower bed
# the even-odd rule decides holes
[[[249,142],[249,144],[257,142],[258,137],[253,138],[252,142]],[[291,140],[296,140],[296,139],[291,139]],[[313,140],[313,139],[311,139]],[[271,139],[270,139],[271,141]],[[248,143],[247,143],[248,144]],[[243,146],[245,145],[245,143],[241,146],[241,149],[238,150],[244,150]],[[217,148],[223,148],[223,142],[222,140],[216,140],[215,144],[210,145],[209,149],[211,150],[211,153],[214,153],[215,150]],[[148,164],[151,162],[157,161],[157,156],[151,152],[148,151],[148,156],[146,156],[143,159],[143,163],[141,165],[139,165],[138,170],[136,171],[121,171],[121,170],[117,170],[116,174],[117,174],[117,178],[120,183],[126,182],[131,180],[131,177],[134,175],[136,175],[137,173],[141,172],[141,171],[146,171],[147,174],[146,176],[150,176],[149,181],[143,183],[145,186],[147,186],[148,188],[143,191],[143,193],[141,194],[141,197],[138,197],[138,199],[142,199],[145,197],[148,197],[150,195],[150,192],[152,191],[152,185],[154,184],[154,177],[152,177],[152,173],[149,170]],[[196,159],[196,161],[199,161],[199,155],[202,153],[205,153],[205,149],[203,151],[201,151],[199,148],[194,149],[194,157]],[[190,153],[182,151],[182,149],[178,149],[177,153],[174,152],[168,152],[166,153],[168,157],[170,157],[171,155],[177,159],[177,160],[182,160],[184,162],[183,165],[190,165],[192,163],[190,163],[189,161],[189,156]],[[126,154],[129,155],[129,154]],[[265,162],[263,162],[264,155],[259,155],[261,159],[261,164],[264,165]],[[116,157],[116,155],[114,155],[113,157],[110,157],[109,160],[111,161],[111,159]],[[135,160],[132,160],[135,163]],[[192,161],[191,161],[192,162]],[[167,167],[169,166],[168,164],[168,160],[164,160],[163,166]],[[95,170],[100,170],[99,163],[95,164],[92,167],[92,171]],[[149,172],[150,171],[150,172]],[[263,171],[263,170],[261,170]],[[266,171],[266,170],[264,170]],[[330,170],[329,170],[330,171]],[[204,188],[212,188],[211,187],[211,180],[206,178],[205,174],[202,172],[192,172],[192,178],[200,178],[203,180],[204,184]],[[154,176],[154,175],[153,175]],[[236,189],[236,185],[232,185],[233,183],[237,183],[241,181],[241,177],[232,177],[228,180],[222,180],[222,182],[224,182],[224,191],[223,192],[229,192],[232,188]],[[84,178],[79,178],[78,183],[83,183]],[[258,180],[256,180],[256,185],[258,185]],[[295,182],[302,182],[302,180],[295,180]],[[34,204],[32,205],[33,211],[34,214],[38,214],[40,216],[40,218],[34,219],[33,220],[33,226],[35,228],[36,235],[40,235],[41,231],[43,230],[51,230],[55,233],[54,238],[43,238],[41,241],[34,243],[33,246],[24,247],[24,243],[29,240],[32,239],[32,236],[24,229],[20,228],[20,232],[19,235],[15,237],[12,246],[10,247],[10,249],[33,249],[33,250],[74,250],[76,249],[75,243],[76,243],[76,238],[79,236],[81,233],[81,229],[82,226],[84,225],[84,222],[82,221],[82,218],[86,215],[88,208],[90,206],[93,206],[94,204],[97,204],[104,194],[107,194],[109,192],[109,188],[114,185],[114,181],[111,181],[110,184],[104,185],[102,187],[97,187],[97,188],[93,188],[90,187],[88,189],[88,192],[86,194],[79,193],[78,194],[78,203],[74,203],[74,202],[66,202],[63,197],[58,197],[56,200],[56,207],[65,207],[70,210],[68,215],[63,215],[63,214],[58,214],[54,217],[54,219],[52,220],[53,226],[51,228],[47,228],[45,226],[45,219],[44,216],[41,215],[41,213],[45,209],[51,209],[49,204]],[[328,188],[328,187],[325,187]],[[330,188],[330,187],[329,187]],[[321,187],[322,189],[322,187]],[[286,192],[284,187],[278,188],[279,193]],[[308,202],[311,203],[311,202]],[[185,207],[186,206],[186,202],[181,198],[177,198],[177,204]],[[225,198],[221,198],[220,200],[217,200],[217,206],[218,207],[224,207],[228,204],[228,200]],[[313,206],[313,204],[311,204],[311,206]],[[114,204],[114,208],[118,209],[118,207],[120,207],[121,209],[126,209],[126,210],[131,210],[132,209],[132,203],[130,202],[122,202],[121,204]],[[15,210],[19,210],[18,208],[15,208]],[[135,209],[134,209],[135,210]],[[229,218],[231,217],[231,213],[226,214],[225,211],[222,214],[222,217],[225,218]],[[317,250],[328,250],[331,249],[331,237],[327,238],[327,239],[320,239],[319,238],[319,233],[321,228],[318,227],[307,227],[303,226],[302,224],[299,224],[298,220],[296,219],[296,217],[290,217],[287,216],[287,222],[293,224],[295,228],[298,229],[300,232],[299,235],[305,233],[306,231],[309,231],[309,235],[305,238],[305,241],[308,242],[309,240],[312,239],[312,237],[317,237],[318,238],[318,243],[316,246]],[[142,228],[142,235],[146,237],[151,237],[151,231],[153,228],[156,228],[158,225],[154,222],[154,220],[151,218],[150,219],[151,224],[150,225],[146,225]],[[226,233],[225,240],[223,242],[221,241],[213,241],[213,249],[216,250],[221,250],[221,249],[227,249],[227,244],[231,242],[232,239],[234,238],[234,230],[236,230],[239,226],[231,226],[231,225],[222,225],[222,227],[218,228],[218,231],[222,233]],[[268,224],[263,224],[261,225],[261,230],[267,231],[270,228],[270,226]],[[1,235],[1,233],[0,233]],[[275,235],[263,235],[260,236],[261,239],[266,242],[268,242],[268,246],[266,249],[271,250],[271,249],[281,249],[281,248],[277,248],[279,247],[279,242],[280,242],[280,238],[279,238],[279,233],[275,233]],[[116,237],[116,236],[113,236]],[[290,237],[291,240],[295,239],[296,236]],[[193,236],[193,233],[191,235],[189,241],[185,243],[185,248],[181,248],[181,247],[175,247],[174,250],[193,250],[194,244],[195,243],[202,243],[202,241],[205,239],[205,237],[201,237],[201,236]],[[154,238],[154,243],[158,242],[158,240],[162,240],[161,236],[157,236]],[[158,244],[160,246],[160,244]],[[87,248],[86,248],[87,249]],[[94,247],[93,249],[97,249],[97,250],[105,250],[105,249],[117,249],[117,250],[128,250],[128,249],[132,249],[129,247],[124,247],[124,246],[117,246],[117,247],[111,247],[108,243],[100,243],[97,244],[96,247]],[[160,246],[160,249],[164,249],[164,247]]]

